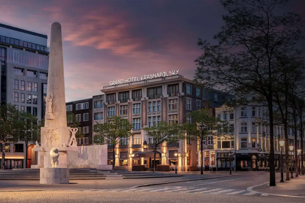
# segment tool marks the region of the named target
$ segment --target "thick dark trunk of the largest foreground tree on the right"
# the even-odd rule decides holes
[[[268,111],[270,121],[270,156],[269,156],[269,168],[270,168],[270,186],[275,186],[275,168],[274,168],[274,129],[273,129],[273,105],[272,105],[272,89],[269,88],[268,99]]]

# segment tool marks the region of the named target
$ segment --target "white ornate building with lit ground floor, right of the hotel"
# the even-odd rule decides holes
[[[259,126],[256,118],[267,118],[267,108],[257,105],[241,106],[234,110],[226,105],[215,108],[215,116],[221,120],[228,121],[234,129],[233,138],[212,137],[208,139],[207,145],[210,149],[204,149],[205,170],[229,170],[230,159],[232,170],[269,170],[270,156],[270,130],[269,127]],[[298,131],[298,149],[300,145],[300,132]],[[284,138],[284,128],[274,126],[274,163],[275,169],[280,170],[281,149],[279,139]],[[294,145],[294,134],[288,129],[289,144]],[[303,134],[304,140],[305,136]],[[305,141],[303,141],[305,146]],[[228,152],[235,152],[230,157]],[[285,152],[283,152],[285,154]],[[294,157],[294,156],[293,156]],[[293,158],[292,161],[295,159]],[[200,160],[199,160],[200,162]]]

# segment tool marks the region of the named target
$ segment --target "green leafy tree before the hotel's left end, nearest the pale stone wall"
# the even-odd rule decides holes
[[[110,144],[113,145],[112,151],[112,169],[115,166],[115,145],[121,144],[121,138],[127,140],[132,137],[133,125],[127,119],[120,116],[108,118],[106,123],[98,123],[94,125],[94,143],[98,145]]]

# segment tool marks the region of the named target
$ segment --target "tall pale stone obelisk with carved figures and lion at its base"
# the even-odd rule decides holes
[[[62,33],[61,25],[57,22],[51,26],[50,41],[47,96],[44,98],[45,127],[41,127],[41,145],[36,146],[34,151],[44,153],[44,167],[40,168],[40,183],[67,184],[69,183],[67,151],[78,149],[76,144],[69,144],[70,127],[67,127],[66,116]]]

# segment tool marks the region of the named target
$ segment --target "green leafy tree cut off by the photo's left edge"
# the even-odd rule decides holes
[[[1,168],[5,169],[5,144],[15,142],[18,139],[20,112],[12,104],[0,106],[0,143],[2,144]]]

